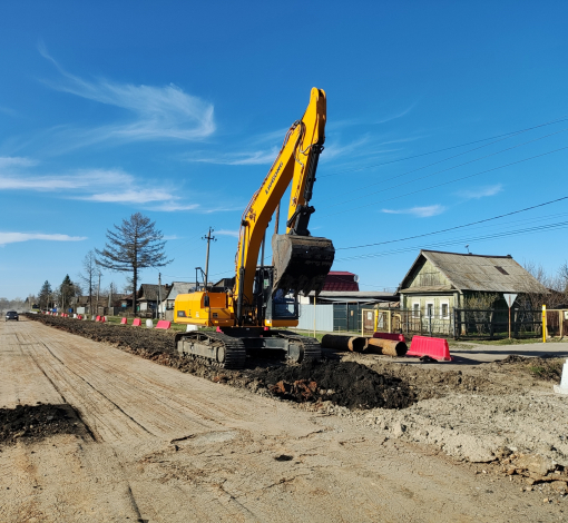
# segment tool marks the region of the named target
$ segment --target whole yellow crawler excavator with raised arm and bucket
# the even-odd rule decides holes
[[[298,293],[322,290],[335,255],[330,239],[307,230],[317,161],[325,141],[326,101],[313,88],[302,119],[286,132],[276,160],[241,219],[235,278],[225,287],[176,297],[174,322],[215,330],[176,335],[177,351],[225,368],[242,368],[248,355],[290,362],[319,358],[314,339],[283,330],[298,324]],[[286,234],[272,237],[273,264],[264,265],[266,229],[292,182]],[[259,265],[258,254],[262,251]]]

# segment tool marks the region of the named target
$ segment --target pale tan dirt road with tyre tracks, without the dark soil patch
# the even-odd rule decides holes
[[[2,522],[564,519],[508,478],[351,420],[0,323],[0,406],[37,402],[70,404],[88,432],[1,447]]]

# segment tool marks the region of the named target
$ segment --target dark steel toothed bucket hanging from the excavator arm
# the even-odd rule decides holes
[[[331,239],[313,236],[273,235],[274,279],[272,290],[315,290],[320,294],[331,269],[335,248]]]

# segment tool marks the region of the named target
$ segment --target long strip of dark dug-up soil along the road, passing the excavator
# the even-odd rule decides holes
[[[302,365],[283,365],[249,361],[248,366],[254,368],[217,369],[199,361],[178,356],[174,349],[173,332],[43,315],[28,315],[28,318],[96,342],[108,343],[213,382],[253,392],[263,391],[297,403],[331,402],[351,409],[366,409],[405,408],[417,401],[415,392],[403,378],[376,373],[359,363],[323,359],[306,361]]]

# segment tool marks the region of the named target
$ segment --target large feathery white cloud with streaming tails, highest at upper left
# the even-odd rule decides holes
[[[61,131],[75,146],[105,140],[202,140],[215,131],[214,106],[198,97],[184,92],[170,83],[164,87],[118,83],[106,79],[86,80],[67,72],[39,46],[41,56],[51,61],[61,78],[46,81],[52,89],[115,106],[130,114],[130,120],[95,129]]]

